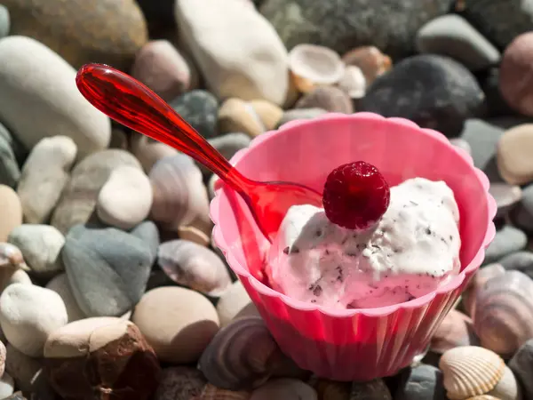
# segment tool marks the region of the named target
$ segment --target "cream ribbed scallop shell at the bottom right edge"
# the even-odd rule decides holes
[[[489,393],[505,372],[505,362],[487,348],[465,346],[445,352],[439,361],[450,400]]]

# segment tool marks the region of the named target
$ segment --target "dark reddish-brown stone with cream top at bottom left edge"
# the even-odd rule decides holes
[[[63,398],[94,398],[95,388],[105,388],[109,394],[101,398],[147,400],[161,372],[139,328],[121,318],[87,318],[61,327],[46,340],[44,357],[48,380]]]

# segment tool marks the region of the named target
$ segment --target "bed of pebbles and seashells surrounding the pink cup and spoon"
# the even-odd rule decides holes
[[[424,358],[370,382],[298,368],[212,244],[218,178],[93,108],[88,62],[227,158],[360,111],[469,153],[497,233]],[[532,2],[0,0],[2,399],[533,399]]]

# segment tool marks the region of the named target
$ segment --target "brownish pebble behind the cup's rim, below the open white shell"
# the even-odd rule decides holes
[[[318,86],[302,96],[295,108],[322,108],[331,113],[352,114],[354,105],[350,97],[335,86]]]

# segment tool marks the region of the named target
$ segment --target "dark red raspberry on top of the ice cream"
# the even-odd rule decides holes
[[[328,219],[348,229],[365,229],[386,212],[389,186],[374,165],[364,161],[340,165],[328,175],[322,203]]]

